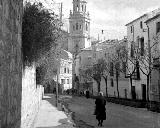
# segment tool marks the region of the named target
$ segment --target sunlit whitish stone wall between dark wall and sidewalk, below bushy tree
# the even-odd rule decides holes
[[[21,128],[31,128],[39,110],[43,87],[36,85],[35,67],[25,67],[22,75]]]

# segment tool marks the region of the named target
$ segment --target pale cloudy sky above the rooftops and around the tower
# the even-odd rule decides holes
[[[68,18],[73,0],[42,0],[47,3],[63,3],[63,22],[68,29]],[[91,36],[105,39],[122,39],[126,36],[126,24],[139,16],[160,7],[160,0],[87,0],[91,18]],[[52,2],[53,3],[53,2]],[[55,10],[59,5],[54,4]],[[102,35],[102,30],[104,33]]]

